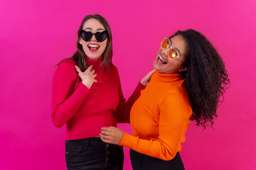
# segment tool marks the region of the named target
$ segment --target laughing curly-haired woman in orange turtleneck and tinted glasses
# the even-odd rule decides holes
[[[178,152],[188,124],[213,125],[228,74],[213,45],[196,30],[164,38],[153,65],[156,72],[132,106],[132,135],[110,127],[100,136],[129,147],[133,169],[184,169]]]

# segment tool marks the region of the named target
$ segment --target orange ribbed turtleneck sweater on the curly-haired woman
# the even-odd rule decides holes
[[[181,74],[155,72],[132,106],[132,135],[124,132],[119,145],[150,157],[171,160],[181,150],[191,115]]]

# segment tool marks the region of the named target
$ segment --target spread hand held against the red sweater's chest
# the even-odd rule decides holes
[[[90,65],[85,72],[82,72],[81,69],[75,65],[75,69],[78,72],[79,77],[82,79],[82,84],[85,84],[88,89],[91,88],[93,83],[96,83],[97,80],[95,80],[95,77],[97,74],[95,74],[95,70],[92,69],[92,65]]]

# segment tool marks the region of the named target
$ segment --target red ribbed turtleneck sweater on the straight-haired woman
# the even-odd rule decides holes
[[[97,83],[90,89],[82,84],[75,71],[75,61],[63,60],[53,76],[52,119],[58,128],[67,125],[66,140],[97,137],[102,127],[129,122],[129,111],[145,86],[139,83],[125,102],[117,68],[110,64],[109,72],[100,60],[87,58],[93,65]],[[115,118],[117,118],[117,120]]]

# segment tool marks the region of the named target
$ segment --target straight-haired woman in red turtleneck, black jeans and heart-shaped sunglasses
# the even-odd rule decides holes
[[[129,122],[129,111],[150,72],[126,102],[117,67],[112,64],[112,34],[100,15],[85,16],[78,30],[78,51],[58,64],[53,77],[52,119],[67,125],[67,169],[122,169],[118,145],[100,140],[101,127]]]

